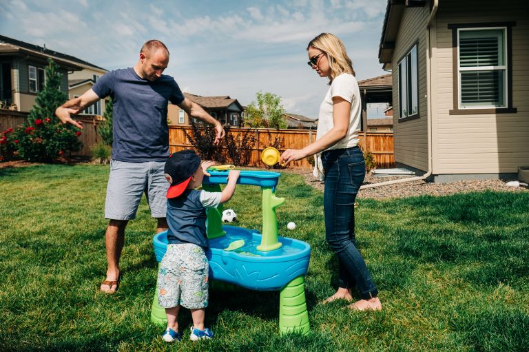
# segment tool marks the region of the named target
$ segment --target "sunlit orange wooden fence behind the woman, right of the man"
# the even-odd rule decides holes
[[[182,149],[189,149],[192,147],[191,143],[187,141],[185,136],[186,131],[192,134],[191,127],[169,126],[169,149],[172,153],[178,152]],[[230,133],[242,134],[250,131],[255,135],[253,147],[251,147],[250,165],[264,167],[261,161],[262,149],[269,147],[271,141],[274,141],[276,136],[284,138],[284,149],[301,149],[315,141],[316,132],[313,130],[274,130],[274,129],[249,129],[249,128],[231,128]],[[360,134],[360,145],[362,149],[368,150],[373,154],[377,167],[395,167],[395,158],[393,155],[393,133],[371,133],[366,132]],[[308,169],[312,166],[309,160],[304,158],[300,161],[295,161],[290,164],[291,167]]]

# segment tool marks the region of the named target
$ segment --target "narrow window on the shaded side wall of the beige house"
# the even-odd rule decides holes
[[[417,81],[417,44],[398,64],[399,118],[418,116],[419,90]]]

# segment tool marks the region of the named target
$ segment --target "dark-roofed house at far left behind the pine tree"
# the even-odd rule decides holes
[[[87,67],[103,70],[74,56],[0,35],[0,101],[13,110],[29,112],[45,84],[48,58],[59,65],[61,91],[68,94],[68,72]]]

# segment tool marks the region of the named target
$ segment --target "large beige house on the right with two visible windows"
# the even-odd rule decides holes
[[[388,0],[397,165],[435,182],[529,165],[528,14],[526,0]]]

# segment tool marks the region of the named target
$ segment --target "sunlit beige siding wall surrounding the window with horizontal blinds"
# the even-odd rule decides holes
[[[525,0],[444,0],[437,12],[435,52],[437,129],[434,174],[512,174],[529,165],[529,6]],[[516,113],[450,115],[455,23],[515,21],[512,27],[512,107]],[[420,94],[419,94],[420,95]],[[395,142],[396,144],[396,142]]]

